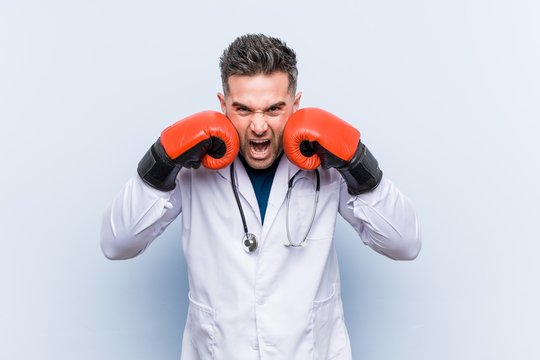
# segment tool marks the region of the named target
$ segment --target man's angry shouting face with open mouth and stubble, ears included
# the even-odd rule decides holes
[[[229,93],[219,93],[221,110],[231,120],[240,137],[240,153],[249,166],[266,169],[279,156],[283,128],[298,109],[301,93],[289,92],[284,72],[270,75],[229,77]]]

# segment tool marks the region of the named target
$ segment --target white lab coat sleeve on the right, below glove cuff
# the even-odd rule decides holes
[[[376,252],[394,260],[418,256],[421,236],[416,213],[410,200],[387,178],[374,190],[357,196],[350,195],[342,181],[339,212]]]

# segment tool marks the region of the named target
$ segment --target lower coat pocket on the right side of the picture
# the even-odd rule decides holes
[[[314,360],[331,360],[345,350],[347,335],[337,286],[328,298],[313,302],[313,333]]]

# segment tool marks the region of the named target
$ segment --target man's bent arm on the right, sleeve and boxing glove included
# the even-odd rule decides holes
[[[321,165],[341,174],[339,212],[367,245],[392,259],[418,255],[414,209],[383,177],[357,129],[327,111],[306,108],[289,118],[283,139],[287,157],[297,166],[312,170]]]

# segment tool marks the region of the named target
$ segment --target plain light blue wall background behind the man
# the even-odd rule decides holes
[[[340,223],[355,359],[539,359],[539,19],[535,0],[1,0],[0,358],[179,358],[179,223],[112,262],[101,215],[166,125],[219,109],[218,57],[262,32],[421,220],[414,262]]]

